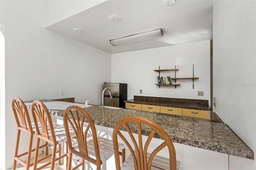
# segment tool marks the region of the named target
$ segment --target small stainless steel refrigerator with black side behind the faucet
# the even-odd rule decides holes
[[[127,84],[126,83],[104,83],[104,89],[110,89],[112,99],[109,92],[104,92],[104,106],[125,108],[124,101],[127,100]]]

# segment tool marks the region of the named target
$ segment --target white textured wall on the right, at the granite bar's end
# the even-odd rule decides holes
[[[256,151],[256,1],[214,1],[214,111]],[[255,170],[256,162],[230,156],[230,169]]]

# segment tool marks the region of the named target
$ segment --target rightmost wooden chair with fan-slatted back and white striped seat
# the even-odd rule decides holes
[[[143,146],[142,130],[144,128],[148,129],[148,127],[150,127],[151,131]],[[128,137],[127,139],[132,142],[128,142],[120,132],[120,128],[128,132],[129,139]],[[138,130],[138,135],[133,135],[130,129]],[[164,142],[159,144],[153,152],[148,153],[148,148],[154,135],[160,135]],[[118,156],[118,136],[123,140],[131,152],[130,156],[128,156],[122,166],[120,166],[120,158]],[[138,136],[138,139],[134,136]],[[180,170],[181,164],[179,161],[176,161],[176,152],[170,136],[168,136],[168,134],[159,125],[144,117],[130,116],[118,121],[113,131],[113,144],[116,170]],[[169,158],[157,156],[156,154],[166,146],[168,147]]]

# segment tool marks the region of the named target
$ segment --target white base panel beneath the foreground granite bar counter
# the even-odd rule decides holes
[[[98,134],[104,137],[112,139],[112,128],[106,128],[97,125]],[[124,136],[128,135],[128,132],[122,131]],[[147,136],[144,136],[147,138]],[[158,138],[152,139],[151,148],[154,148],[154,143],[159,144],[163,140]],[[179,160],[182,164],[182,170],[228,170],[228,155],[222,154],[220,152],[214,152],[211,150],[196,148],[193,146],[188,146],[184,144],[179,144],[174,142],[174,147],[176,150],[176,160]],[[149,148],[150,150],[150,148]],[[129,155],[129,150],[126,148],[126,158]],[[168,153],[167,149],[161,150],[158,155],[165,156]],[[114,156],[113,156],[114,157]],[[110,161],[113,162],[110,162]],[[107,169],[113,169],[114,159],[107,161]]]

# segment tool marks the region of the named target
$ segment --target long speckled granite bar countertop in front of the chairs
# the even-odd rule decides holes
[[[62,101],[44,100],[43,102],[51,114],[60,117],[63,117],[64,110],[67,107],[78,105],[89,113],[95,125],[109,128],[114,128],[120,119],[127,116],[138,115],[146,117],[158,123],[173,142],[254,159],[254,152],[224,123],[213,123],[189,117],[174,117],[153,112],[109,109],[90,105],[86,107],[84,104]],[[25,104],[30,108],[31,102],[25,102]],[[133,130],[132,132],[136,133]],[[144,133],[144,135],[147,135],[146,131]]]

